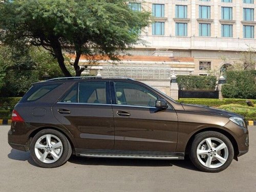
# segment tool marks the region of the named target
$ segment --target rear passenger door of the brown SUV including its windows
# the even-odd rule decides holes
[[[81,81],[53,106],[53,114],[65,126],[78,148],[113,150],[114,118],[109,81]]]

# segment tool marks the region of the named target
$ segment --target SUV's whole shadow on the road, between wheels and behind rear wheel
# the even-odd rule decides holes
[[[8,154],[9,159],[17,161],[28,161],[33,166],[39,167],[30,156],[30,152],[23,152],[12,149]],[[68,160],[73,164],[80,165],[104,165],[104,166],[151,166],[151,167],[172,167],[178,166],[185,169],[198,169],[188,160],[155,160],[155,159],[114,159],[114,158],[86,158],[72,155]]]

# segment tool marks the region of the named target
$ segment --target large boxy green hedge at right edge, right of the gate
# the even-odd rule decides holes
[[[227,71],[222,95],[226,98],[256,99],[256,70]]]

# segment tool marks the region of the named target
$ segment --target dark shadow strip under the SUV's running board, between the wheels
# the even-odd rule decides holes
[[[156,159],[114,159],[114,158],[85,158],[71,156],[69,159],[70,163],[81,164],[81,165],[105,165],[105,166],[152,166],[152,167],[171,167],[173,165],[196,170],[193,163],[189,160],[156,160]]]

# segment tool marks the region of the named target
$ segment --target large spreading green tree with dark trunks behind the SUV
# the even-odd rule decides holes
[[[118,56],[140,41],[138,31],[149,24],[150,13],[132,11],[126,0],[13,0],[0,4],[2,41],[42,46],[58,61],[65,76],[65,53],[75,54],[76,76],[86,67],[78,65],[81,55],[90,60]]]

